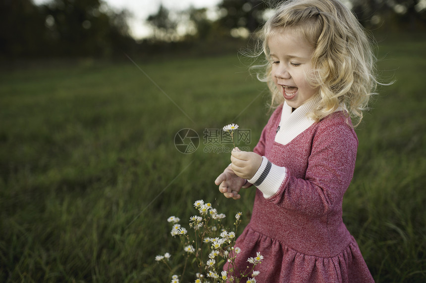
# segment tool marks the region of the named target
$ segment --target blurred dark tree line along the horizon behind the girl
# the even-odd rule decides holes
[[[103,0],[51,0],[42,5],[1,0],[0,57],[109,57],[187,49],[200,43],[218,48],[235,39],[247,42],[278,2],[222,0],[213,17],[206,8],[171,11],[160,5],[146,19],[152,36],[136,41],[127,24],[131,14],[112,10]],[[346,4],[369,29],[426,31],[426,0],[346,0]]]

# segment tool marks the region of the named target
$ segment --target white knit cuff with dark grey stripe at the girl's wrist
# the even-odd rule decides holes
[[[262,164],[249,183],[260,189],[265,198],[274,195],[281,187],[287,175],[285,167],[272,164],[265,156],[262,157]]]

